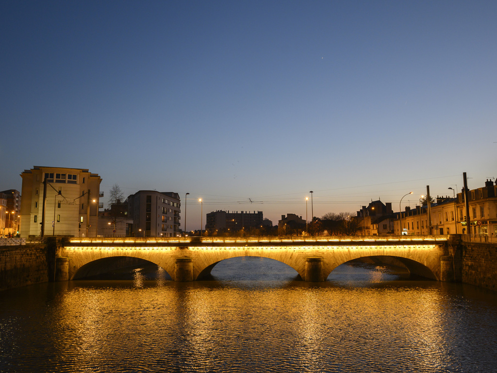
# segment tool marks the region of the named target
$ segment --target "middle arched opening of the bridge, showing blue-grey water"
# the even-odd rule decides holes
[[[197,280],[302,280],[285,263],[263,257],[241,256],[224,259],[206,267]]]

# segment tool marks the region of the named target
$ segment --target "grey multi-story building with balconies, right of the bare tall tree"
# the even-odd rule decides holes
[[[175,192],[139,190],[128,196],[128,214],[133,219],[135,237],[176,237],[179,235],[181,202]]]

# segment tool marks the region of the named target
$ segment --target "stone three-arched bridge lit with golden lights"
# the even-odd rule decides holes
[[[175,281],[200,280],[229,258],[252,256],[292,267],[305,281],[324,281],[339,265],[364,257],[394,257],[411,274],[453,280],[458,235],[318,238],[75,238],[59,249],[58,279],[103,273],[111,258],[133,257],[163,268]],[[381,259],[381,258],[380,258]]]

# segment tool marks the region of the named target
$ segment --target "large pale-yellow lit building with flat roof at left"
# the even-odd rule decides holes
[[[100,197],[98,174],[87,169],[40,167],[24,170],[20,236],[94,237]]]

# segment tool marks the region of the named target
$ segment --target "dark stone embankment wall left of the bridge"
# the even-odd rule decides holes
[[[0,290],[53,280],[54,267],[50,243],[0,247]]]

